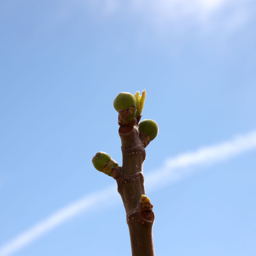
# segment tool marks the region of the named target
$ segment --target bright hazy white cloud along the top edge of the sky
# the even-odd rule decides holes
[[[105,0],[98,3],[104,6],[103,11],[108,15],[115,12],[132,12],[132,15],[139,15],[140,19],[155,25],[180,28],[197,24],[205,29],[234,29],[247,21],[253,1],[133,0],[129,3],[120,3],[117,0]]]

